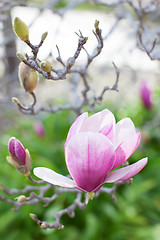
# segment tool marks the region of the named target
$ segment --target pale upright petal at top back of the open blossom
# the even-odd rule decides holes
[[[113,113],[111,113],[108,109],[105,109],[85,119],[81,126],[80,131],[99,132],[108,124],[115,125],[115,118]]]

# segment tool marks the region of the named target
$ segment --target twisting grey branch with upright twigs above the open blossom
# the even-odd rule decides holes
[[[92,88],[91,88],[91,86],[89,85],[89,82],[88,82],[88,76],[87,76],[88,67],[91,64],[91,62],[101,53],[103,45],[104,45],[103,41],[104,41],[104,39],[106,39],[106,36],[109,35],[109,33],[108,33],[104,38],[102,37],[102,31],[99,28],[99,21],[95,21],[95,25],[94,26],[95,26],[95,30],[93,30],[93,33],[94,33],[94,35],[95,35],[95,37],[97,39],[97,46],[93,50],[93,53],[90,54],[84,48],[84,44],[86,43],[87,38],[84,38],[82,33],[80,32],[80,34],[77,34],[78,37],[79,37],[79,43],[78,43],[77,50],[76,50],[74,56],[67,60],[67,65],[62,60],[60,50],[59,50],[58,46],[56,46],[57,47],[57,51],[58,51],[57,61],[59,61],[61,63],[61,65],[63,66],[63,70],[55,70],[55,69],[52,68],[52,70],[57,74],[57,76],[59,76],[59,77],[61,76],[62,78],[64,76],[64,72],[65,72],[64,69],[66,69],[66,66],[69,66],[67,68],[67,73],[68,74],[79,74],[79,76],[80,76],[80,78],[81,78],[81,80],[83,81],[83,84],[84,84],[84,89],[81,91],[81,93],[82,93],[82,100],[79,101],[79,103],[76,104],[76,105],[72,105],[72,104],[66,104],[65,106],[61,106],[61,105],[52,106],[52,105],[49,105],[48,107],[40,106],[38,108],[35,108],[35,104],[36,104],[37,100],[36,100],[36,95],[34,94],[34,92],[32,92],[30,94],[33,97],[33,103],[31,105],[29,105],[29,106],[24,106],[24,105],[22,105],[19,102],[19,100],[17,98],[12,98],[13,102],[15,102],[17,104],[19,110],[22,113],[35,115],[35,114],[38,114],[39,112],[55,113],[57,111],[71,110],[71,111],[74,111],[75,113],[77,113],[77,115],[80,115],[83,112],[82,108],[84,106],[88,106],[89,107],[88,111],[93,111],[94,106],[97,103],[100,103],[103,100],[103,95],[104,95],[104,93],[106,91],[108,91],[108,90],[118,91],[118,80],[119,80],[119,73],[120,72],[119,72],[118,67],[113,63],[115,71],[116,71],[116,82],[115,82],[115,84],[112,87],[105,86],[104,89],[102,89],[102,93],[98,97],[94,93],[93,93],[94,94],[93,98],[89,98],[88,95],[87,95],[89,90],[92,91]],[[115,28],[115,24],[111,27],[111,30],[109,32],[111,33],[114,28]],[[35,68],[35,65],[37,63],[38,64],[38,71],[39,71],[39,73],[41,73],[43,71],[39,67],[39,65],[40,65],[39,64],[39,60],[37,60],[36,58],[37,58],[38,49],[39,49],[40,46],[42,46],[42,43],[43,42],[41,41],[38,46],[33,46],[32,44],[27,43],[32,48],[33,56],[30,57],[30,58],[27,56],[28,60],[26,60],[26,59],[23,60],[24,63],[29,64],[29,66],[33,67],[35,70],[37,70],[37,66]],[[82,49],[86,52],[87,61],[81,67],[74,67],[73,68],[75,60],[78,58],[78,56],[80,54],[80,51]],[[30,60],[31,58],[35,59],[35,60]],[[46,73],[46,72],[43,72],[42,75],[43,76],[47,76],[48,78],[52,76],[51,73]]]

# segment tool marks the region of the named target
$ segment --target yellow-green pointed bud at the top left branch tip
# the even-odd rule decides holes
[[[29,40],[29,29],[27,25],[18,17],[14,19],[14,31],[22,41]]]

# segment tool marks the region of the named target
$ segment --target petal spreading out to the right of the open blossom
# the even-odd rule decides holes
[[[127,180],[137,173],[139,173],[142,168],[147,164],[148,158],[143,158],[139,160],[138,162],[131,164],[127,167],[120,168],[118,170],[115,170],[111,172],[105,179],[104,183],[112,183],[122,180]]]

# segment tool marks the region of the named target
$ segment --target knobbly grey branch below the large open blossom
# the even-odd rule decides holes
[[[74,193],[76,195],[75,200],[71,205],[58,211],[55,214],[55,216],[53,216],[55,221],[52,224],[49,224],[46,221],[41,221],[38,219],[36,214],[30,213],[30,217],[43,229],[49,228],[62,229],[64,228],[64,225],[61,223],[61,218],[63,215],[67,214],[69,217],[73,218],[75,217],[75,210],[77,207],[79,207],[82,210],[84,210],[87,207],[86,202],[83,202],[82,200],[83,193],[80,192],[79,190],[56,187],[44,181],[36,181],[32,177],[28,177],[28,179],[37,186],[27,185],[24,189],[9,189],[7,187],[0,185],[0,189],[7,195],[7,197],[4,197],[2,194],[0,194],[0,201],[4,201],[13,205],[14,210],[18,211],[24,205],[35,205],[42,202],[43,207],[47,207],[50,203],[54,202],[59,197],[60,194],[66,192]],[[95,197],[97,198],[100,194],[106,193],[109,194],[112,197],[112,200],[115,202],[116,201],[115,192],[117,188],[123,184],[131,184],[131,180],[129,179],[126,181],[119,181],[115,183],[111,188],[102,187],[98,192],[96,192]],[[54,189],[54,193],[52,196],[46,197],[45,193],[49,189]],[[14,197],[14,200],[11,200],[9,198],[9,196],[13,197],[15,195],[17,196]],[[89,204],[92,203],[90,202]]]

